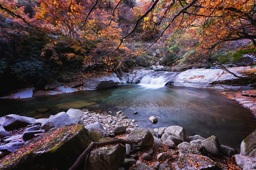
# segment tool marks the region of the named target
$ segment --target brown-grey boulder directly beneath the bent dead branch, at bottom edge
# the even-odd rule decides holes
[[[118,170],[125,158],[125,147],[122,144],[97,148],[91,151],[86,170]]]

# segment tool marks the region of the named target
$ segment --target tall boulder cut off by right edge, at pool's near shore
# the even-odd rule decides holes
[[[256,158],[256,130],[242,141],[240,149],[240,154]]]

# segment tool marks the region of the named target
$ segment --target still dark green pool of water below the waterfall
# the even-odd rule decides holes
[[[143,128],[178,125],[188,136],[205,138],[215,135],[221,144],[239,150],[241,141],[256,129],[256,119],[239,103],[219,91],[200,88],[120,85],[94,91],[80,91],[30,99],[0,100],[0,116],[19,114],[47,118],[70,108],[88,110],[123,110],[129,119]],[[133,112],[138,111],[134,115]],[[151,124],[148,117],[158,117]]]

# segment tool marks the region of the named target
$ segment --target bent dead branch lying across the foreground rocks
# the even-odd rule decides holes
[[[72,165],[72,167],[69,168],[68,170],[76,170],[78,168],[79,164],[82,161],[84,161],[87,154],[89,154],[95,147],[105,146],[108,144],[138,144],[141,141],[142,141],[142,139],[138,140],[138,141],[131,141],[131,140],[125,140],[125,139],[113,139],[113,140],[104,141],[104,142],[92,142],[85,149],[85,151],[77,158],[76,162]]]

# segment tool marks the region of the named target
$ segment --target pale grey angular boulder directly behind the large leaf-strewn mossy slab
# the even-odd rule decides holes
[[[64,127],[76,123],[74,120],[70,119],[66,112],[60,112],[57,115],[51,116],[44,124],[42,124],[41,129],[46,132],[54,127]]]

